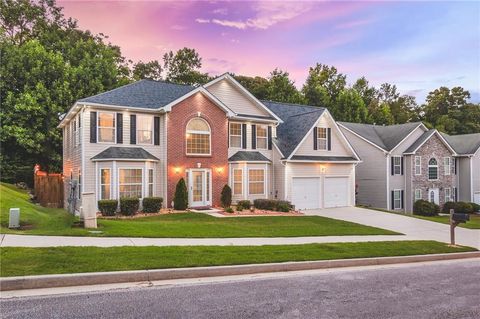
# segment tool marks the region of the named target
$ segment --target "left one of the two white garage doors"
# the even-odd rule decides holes
[[[320,178],[294,177],[292,179],[292,204],[295,209],[320,207]]]

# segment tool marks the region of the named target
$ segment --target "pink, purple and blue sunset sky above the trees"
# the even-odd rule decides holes
[[[297,87],[317,62],[352,84],[388,82],[423,103],[462,86],[480,101],[478,1],[58,0],[79,27],[108,35],[134,62],[195,48],[202,70],[267,77],[280,68]]]

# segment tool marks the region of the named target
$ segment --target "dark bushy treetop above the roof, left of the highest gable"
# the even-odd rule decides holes
[[[183,48],[163,55],[166,80],[179,84],[204,84],[210,80],[207,73],[201,73],[202,58],[195,49]]]

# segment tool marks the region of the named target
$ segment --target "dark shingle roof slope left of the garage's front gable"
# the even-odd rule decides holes
[[[273,101],[261,101],[284,123],[277,127],[277,138],[274,139],[283,156],[289,157],[303,137],[312,128],[325,108]]]

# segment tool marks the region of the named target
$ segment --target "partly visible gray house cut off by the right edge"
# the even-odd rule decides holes
[[[480,133],[442,135],[458,154],[458,200],[480,204]]]

